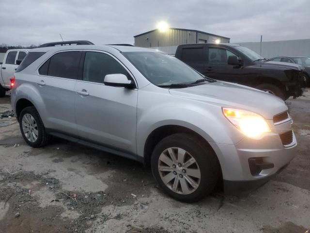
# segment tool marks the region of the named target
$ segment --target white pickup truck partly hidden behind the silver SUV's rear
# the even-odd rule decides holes
[[[0,65],[0,97],[4,97],[5,92],[10,89],[10,78],[28,52],[29,50],[16,49],[7,50],[5,53],[3,63]]]

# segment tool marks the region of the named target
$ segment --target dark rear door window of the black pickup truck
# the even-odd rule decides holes
[[[182,49],[182,61],[192,64],[203,64],[205,62],[204,47],[187,47]]]

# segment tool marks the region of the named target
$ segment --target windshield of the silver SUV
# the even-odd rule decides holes
[[[157,86],[192,83],[204,79],[202,74],[165,53],[123,52],[122,54],[148,81]]]

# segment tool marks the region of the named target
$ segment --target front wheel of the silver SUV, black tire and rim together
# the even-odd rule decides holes
[[[219,176],[212,148],[188,133],[162,139],[153,150],[151,166],[161,188],[184,202],[198,201],[210,194]]]

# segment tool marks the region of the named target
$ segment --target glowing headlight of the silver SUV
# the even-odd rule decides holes
[[[222,108],[224,116],[242,133],[251,138],[258,138],[263,133],[271,132],[265,119],[246,110]]]

